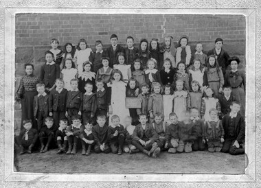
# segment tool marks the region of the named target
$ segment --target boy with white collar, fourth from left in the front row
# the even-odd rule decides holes
[[[83,132],[84,126],[80,123],[82,119],[80,118],[80,115],[73,115],[71,118],[73,121],[73,124],[67,127],[66,129],[66,136],[68,139],[68,150],[66,154],[76,154],[77,152],[77,144],[78,144],[78,138],[79,135]],[[73,148],[71,149],[71,145],[73,145]]]

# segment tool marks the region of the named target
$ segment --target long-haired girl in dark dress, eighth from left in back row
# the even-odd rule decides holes
[[[161,69],[163,63],[163,54],[159,51],[159,42],[157,38],[152,38],[150,41],[150,58],[154,58],[159,63],[157,68]]]

